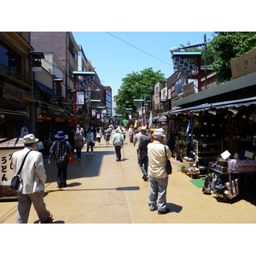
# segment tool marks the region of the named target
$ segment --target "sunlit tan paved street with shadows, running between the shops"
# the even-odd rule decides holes
[[[255,224],[256,207],[252,198],[234,203],[204,195],[177,171],[169,178],[166,215],[148,209],[148,182],[142,179],[133,144],[125,140],[125,158],[115,160],[112,145],[96,143],[94,154],[68,166],[67,188],[56,187],[56,166],[45,158],[47,183],[44,201],[53,214],[53,224]],[[15,224],[17,201],[0,202],[0,223]],[[32,207],[30,224],[38,223]]]

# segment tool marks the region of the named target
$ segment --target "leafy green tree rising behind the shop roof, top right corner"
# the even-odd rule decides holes
[[[256,47],[256,32],[214,32],[210,46],[215,52],[212,67],[221,82],[232,78],[230,61]]]

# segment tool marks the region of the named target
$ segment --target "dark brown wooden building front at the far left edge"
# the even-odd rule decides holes
[[[35,131],[30,32],[0,32],[0,137]]]

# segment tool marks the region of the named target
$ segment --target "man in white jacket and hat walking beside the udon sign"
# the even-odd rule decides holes
[[[38,138],[33,134],[27,134],[23,139],[25,148],[16,151],[12,155],[13,168],[15,173],[17,173],[25,155],[28,153],[20,172],[16,223],[27,223],[32,204],[38,213],[40,222],[49,223],[52,219],[52,214],[50,214],[44,204],[44,183],[46,181],[46,174],[43,154],[34,150],[37,148]]]

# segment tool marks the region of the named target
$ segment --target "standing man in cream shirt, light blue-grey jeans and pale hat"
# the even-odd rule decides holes
[[[171,158],[172,153],[168,146],[162,144],[164,137],[166,137],[162,129],[154,130],[152,136],[154,142],[148,144],[148,181],[150,188],[148,206],[150,211],[154,211],[158,200],[158,214],[166,214],[170,212],[170,209],[166,208],[166,189],[168,185],[166,158]]]

